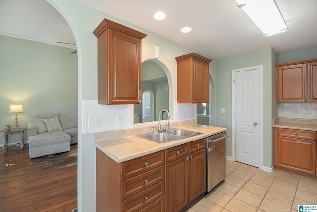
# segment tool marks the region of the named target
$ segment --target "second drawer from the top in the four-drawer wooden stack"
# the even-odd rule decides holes
[[[165,166],[160,166],[141,175],[121,182],[122,197],[124,200],[138,192],[147,189],[165,179]]]

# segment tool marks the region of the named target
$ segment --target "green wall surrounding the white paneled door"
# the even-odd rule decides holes
[[[263,165],[272,167],[272,49],[270,47],[217,60],[217,126],[226,127],[227,155],[232,156],[232,70],[263,65]],[[275,65],[275,64],[274,64]],[[225,108],[225,113],[221,113]]]

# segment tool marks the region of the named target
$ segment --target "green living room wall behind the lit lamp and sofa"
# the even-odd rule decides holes
[[[0,129],[15,126],[10,104],[23,104],[19,127],[35,114],[77,112],[77,54],[73,49],[0,35]],[[24,133],[27,141],[27,133]],[[20,142],[10,136],[9,142]],[[0,136],[0,145],[4,136]]]

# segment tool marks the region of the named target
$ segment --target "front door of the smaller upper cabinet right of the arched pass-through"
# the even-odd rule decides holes
[[[193,58],[193,91],[192,101],[194,103],[209,102],[209,65],[208,63]]]

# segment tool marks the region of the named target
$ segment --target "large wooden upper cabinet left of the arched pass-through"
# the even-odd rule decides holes
[[[147,35],[104,19],[98,38],[98,104],[139,104],[141,40]]]

